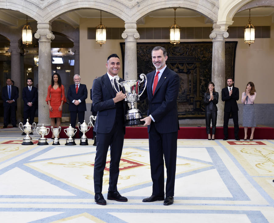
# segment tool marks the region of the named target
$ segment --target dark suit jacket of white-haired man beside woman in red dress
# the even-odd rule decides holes
[[[86,98],[87,98],[87,89],[86,84],[80,84],[78,88],[78,92],[76,94],[75,84],[72,84],[68,88],[67,98],[69,100],[68,111],[76,112],[77,109],[79,112],[86,111]],[[81,100],[79,105],[74,105],[72,103],[73,100]]]

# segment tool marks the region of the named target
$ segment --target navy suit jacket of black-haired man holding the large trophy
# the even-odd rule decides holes
[[[120,78],[119,82],[124,81]],[[112,84],[107,74],[98,77],[93,82],[92,104],[97,112],[94,131],[97,133],[109,133],[113,128],[116,117],[116,106],[113,98],[116,93],[113,91]],[[126,102],[123,101],[124,114],[126,112]],[[125,128],[124,128],[125,134]]]

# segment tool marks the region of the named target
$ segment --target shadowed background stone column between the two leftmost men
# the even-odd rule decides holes
[[[14,85],[18,87],[19,98],[17,99],[16,117],[17,117],[17,122],[19,123],[23,120],[22,120],[22,113],[21,113],[21,104],[22,104],[22,84],[21,84],[21,71],[20,71],[21,49],[19,48],[18,39],[14,41],[10,41],[10,47],[8,52],[11,53],[11,80],[13,80],[15,83]]]

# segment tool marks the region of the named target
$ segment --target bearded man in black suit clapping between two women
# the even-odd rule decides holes
[[[234,135],[235,140],[240,140],[238,137],[239,124],[238,124],[238,105],[239,89],[233,86],[234,81],[231,77],[227,78],[227,87],[222,89],[222,101],[225,101],[224,115],[223,115],[223,134],[224,139],[228,139],[228,121],[230,113],[234,122]]]

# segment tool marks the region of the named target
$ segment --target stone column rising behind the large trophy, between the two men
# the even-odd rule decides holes
[[[137,80],[137,39],[140,35],[136,22],[125,22],[125,31],[122,33],[125,39],[125,80]]]

